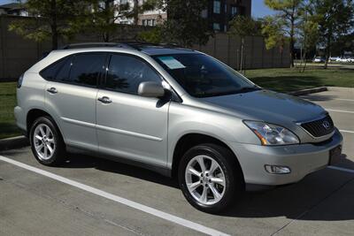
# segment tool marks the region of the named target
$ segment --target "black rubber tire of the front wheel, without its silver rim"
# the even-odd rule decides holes
[[[225,174],[225,194],[219,202],[212,205],[206,205],[197,202],[194,197],[189,193],[189,189],[186,185],[186,167],[193,157],[199,155],[209,156],[214,159],[219,164]],[[227,148],[220,147],[214,144],[198,145],[194,148],[190,148],[185,153],[185,155],[181,159],[181,163],[179,166],[178,179],[182,193],[192,206],[194,206],[196,209],[200,209],[208,213],[218,213],[227,209],[227,207],[230,207],[233,203],[237,201],[237,195],[241,194],[242,192],[242,179],[240,178],[240,175],[236,173],[240,170],[235,162],[236,160],[233,160],[232,158],[235,158],[235,156],[229,150],[227,150]]]

